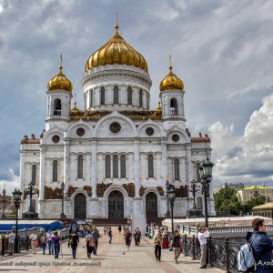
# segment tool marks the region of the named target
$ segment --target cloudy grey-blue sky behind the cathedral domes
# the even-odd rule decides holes
[[[273,1],[0,0],[0,192],[19,185],[20,142],[45,128],[46,86],[63,54],[83,108],[88,56],[119,33],[153,81],[185,84],[187,127],[211,137],[214,183],[273,187]]]

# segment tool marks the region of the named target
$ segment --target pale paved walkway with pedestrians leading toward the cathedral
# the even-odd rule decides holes
[[[43,255],[41,248],[32,254],[31,251],[23,251],[14,256],[0,258],[0,272],[97,272],[97,273],[123,273],[123,272],[224,272],[217,268],[200,269],[198,260],[192,260],[183,255],[179,257],[179,263],[175,264],[173,252],[162,249],[161,262],[157,262],[154,254],[152,239],[143,236],[141,245],[132,246],[126,251],[123,233],[118,234],[117,227],[113,227],[112,244],[108,243],[108,236],[104,235],[101,227],[98,228],[102,238],[99,238],[97,256],[87,258],[85,238],[80,238],[80,244],[76,251],[76,259],[72,258],[71,248],[67,247],[67,240],[63,242],[62,253],[59,258],[53,255]]]

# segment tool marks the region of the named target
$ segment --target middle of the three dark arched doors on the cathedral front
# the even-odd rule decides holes
[[[108,197],[108,218],[124,217],[124,197],[118,190],[113,190]]]

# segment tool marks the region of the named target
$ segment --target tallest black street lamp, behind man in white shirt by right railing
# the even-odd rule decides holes
[[[209,183],[212,180],[212,168],[214,164],[209,161],[207,158],[203,161],[202,166],[199,167],[199,174],[201,178],[202,185],[202,193],[204,194],[204,202],[205,202],[205,221],[206,227],[208,227],[208,219],[207,219],[207,194],[209,192]]]

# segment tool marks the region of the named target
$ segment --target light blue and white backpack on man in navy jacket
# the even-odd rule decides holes
[[[239,272],[253,272],[253,270],[256,271],[257,263],[253,256],[253,248],[251,247],[255,238],[256,236],[252,238],[250,242],[247,241],[246,244],[243,245],[238,251],[237,265]]]

